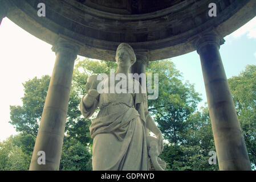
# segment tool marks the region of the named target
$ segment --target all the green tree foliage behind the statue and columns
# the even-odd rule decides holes
[[[81,117],[79,104],[86,94],[84,86],[90,75],[109,74],[115,62],[78,60],[75,65],[68,104],[60,170],[91,170],[92,119]],[[241,121],[247,150],[255,164],[255,66],[249,66],[237,77],[229,79],[238,117]],[[147,73],[159,74],[159,97],[148,100],[149,111],[166,141],[161,158],[168,170],[218,170],[208,163],[209,151],[216,151],[208,108],[197,110],[201,101],[194,85],[184,82],[172,61],[149,63]],[[26,81],[22,106],[10,106],[11,121],[21,134],[0,145],[0,169],[28,169],[38,132],[40,117],[50,83],[50,76]],[[17,156],[14,156],[15,154]],[[15,160],[15,161],[14,161]],[[19,168],[15,168],[19,165]],[[6,167],[4,167],[6,166]]]

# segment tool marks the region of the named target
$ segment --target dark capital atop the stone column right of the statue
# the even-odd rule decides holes
[[[198,36],[196,42],[194,43],[194,46],[197,49],[197,53],[200,54],[201,48],[205,47],[209,44],[213,44],[220,49],[220,46],[224,44],[225,40],[221,38],[218,34],[214,32],[201,34]]]

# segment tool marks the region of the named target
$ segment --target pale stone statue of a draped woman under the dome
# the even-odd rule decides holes
[[[123,73],[128,78],[129,70],[135,61],[132,47],[121,43],[116,50],[116,74]],[[97,85],[100,81],[97,76],[88,77],[87,94],[80,102],[80,110],[86,118],[94,114],[97,106],[100,108],[90,126],[93,138],[92,169],[150,170],[149,144],[147,146],[149,130],[156,135],[160,152],[163,144],[161,131],[148,112],[147,95],[134,92],[99,94]],[[128,81],[132,81],[134,85],[137,80]],[[159,152],[157,153],[159,155]]]

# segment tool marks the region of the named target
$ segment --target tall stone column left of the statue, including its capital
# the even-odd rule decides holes
[[[69,42],[59,41],[52,47],[52,51],[56,53],[56,60],[36,137],[30,170],[59,170],[71,80],[78,48]],[[38,155],[39,151],[45,153],[45,164],[38,164],[38,158],[43,156],[42,154]]]

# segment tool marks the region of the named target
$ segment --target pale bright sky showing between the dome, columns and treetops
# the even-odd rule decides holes
[[[10,123],[10,105],[22,105],[22,83],[43,75],[51,75],[55,53],[51,45],[35,38],[9,19],[4,18],[0,25],[0,140],[17,134]],[[247,64],[256,64],[256,18],[225,37],[220,52],[227,78],[238,75]],[[196,51],[173,57],[176,68],[183,73],[184,80],[195,84],[196,91],[206,102],[204,80],[200,58]]]

